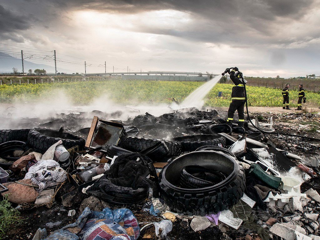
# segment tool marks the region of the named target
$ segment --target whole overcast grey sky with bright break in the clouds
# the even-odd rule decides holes
[[[319,22],[320,0],[2,0],[0,43],[56,50],[58,71],[290,77],[320,75]]]

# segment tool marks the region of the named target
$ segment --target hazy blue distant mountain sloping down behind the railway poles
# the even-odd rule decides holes
[[[46,64],[38,64],[38,63],[23,60],[23,65],[24,65],[24,72],[25,73],[28,73],[29,69],[32,69],[32,71],[34,71],[37,68],[44,69],[47,71],[47,73],[54,73],[55,72],[54,66],[50,66],[50,65],[46,65]],[[11,73],[12,68],[17,68],[19,72],[22,72],[21,59],[14,58],[14,57],[10,56],[9,54],[6,54],[6,53],[0,51],[0,73]],[[72,70],[65,69],[65,68],[59,68],[57,66],[57,72],[72,73]]]

